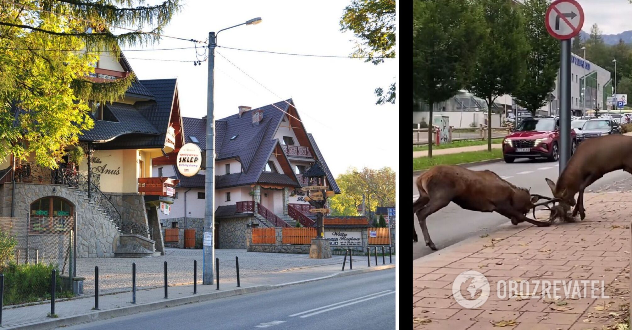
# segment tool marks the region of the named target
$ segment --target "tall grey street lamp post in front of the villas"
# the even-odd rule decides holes
[[[209,32],[209,76],[208,76],[208,90],[207,90],[207,109],[206,109],[206,168],[205,168],[205,199],[206,207],[204,210],[204,240],[203,240],[203,254],[204,259],[202,262],[202,284],[213,284],[213,268],[215,267],[215,248],[213,246],[213,232],[214,232],[214,192],[215,183],[215,118],[213,116],[213,92],[214,92],[214,69],[215,69],[215,47],[217,46],[217,35],[219,32],[228,30],[229,28],[238,27],[240,25],[254,25],[261,23],[261,18],[253,18],[245,23],[233,25],[232,27],[219,30],[217,34],[215,32]]]

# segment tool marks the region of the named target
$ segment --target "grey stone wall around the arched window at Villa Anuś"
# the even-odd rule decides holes
[[[16,183],[15,216],[26,219],[30,204],[47,196],[57,196],[68,200],[76,212],[76,252],[78,258],[114,257],[119,240],[119,231],[114,224],[97,209],[94,204],[79,195],[78,191],[66,185],[39,185],[36,183]],[[52,190],[55,189],[55,192]],[[11,184],[3,185],[4,204],[0,208],[3,216],[11,215]],[[6,197],[9,198],[6,198]]]

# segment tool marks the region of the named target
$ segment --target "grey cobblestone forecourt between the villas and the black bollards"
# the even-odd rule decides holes
[[[193,259],[197,260],[197,278],[202,281],[202,250],[166,248],[166,255],[150,258],[78,258],[77,276],[86,278],[83,293],[94,293],[94,266],[99,266],[99,292],[131,290],[131,263],[136,262],[137,288],[164,285],[164,262],[167,262],[169,285],[193,283]],[[235,257],[239,257],[240,278],[280,272],[296,267],[342,264],[343,256],[310,259],[307,254],[272,254],[246,252],[245,249],[215,250],[219,258],[219,276],[235,279]],[[214,275],[215,276],[215,275]]]

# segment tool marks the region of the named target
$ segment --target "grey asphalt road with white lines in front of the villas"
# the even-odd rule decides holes
[[[395,329],[395,269],[295,284],[63,329],[228,330],[265,327]]]

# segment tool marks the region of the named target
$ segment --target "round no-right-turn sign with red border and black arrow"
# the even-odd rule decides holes
[[[584,11],[575,0],[556,0],[547,9],[544,23],[553,37],[571,39],[584,25]]]

